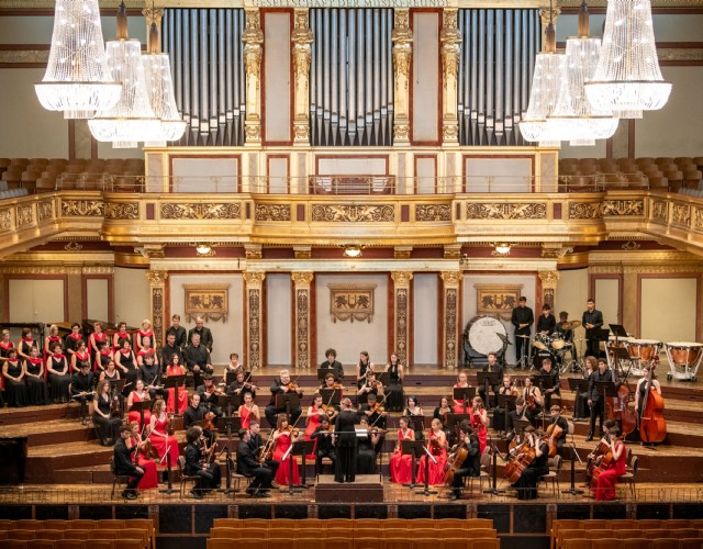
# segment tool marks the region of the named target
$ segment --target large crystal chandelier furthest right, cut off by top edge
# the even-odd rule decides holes
[[[589,101],[621,119],[639,119],[641,111],[661,109],[670,92],[659,70],[651,3],[609,0],[601,58],[585,85]]]

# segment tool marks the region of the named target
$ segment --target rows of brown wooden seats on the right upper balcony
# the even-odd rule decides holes
[[[561,158],[559,182],[567,191],[599,183],[606,190],[700,190],[703,157]]]

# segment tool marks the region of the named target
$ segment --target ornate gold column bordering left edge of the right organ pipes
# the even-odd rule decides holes
[[[443,12],[442,33],[442,69],[444,97],[442,109],[442,141],[445,144],[459,144],[459,117],[457,113],[457,75],[461,34],[457,27],[457,10],[445,9]]]

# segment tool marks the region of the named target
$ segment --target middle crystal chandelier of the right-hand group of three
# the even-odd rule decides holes
[[[569,141],[571,145],[594,145],[617,130],[612,112],[591,105],[583,85],[591,80],[601,52],[601,42],[589,37],[589,12],[585,0],[579,13],[579,37],[567,40],[567,60],[559,99],[547,116],[547,138]]]

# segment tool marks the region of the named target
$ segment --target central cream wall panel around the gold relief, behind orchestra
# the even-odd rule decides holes
[[[316,291],[317,356],[313,362],[324,360],[325,349],[334,347],[345,370],[356,366],[359,352],[369,351],[371,362],[386,365],[388,349],[388,277],[384,274],[320,274],[313,282]],[[376,284],[375,314],[371,323],[332,321],[327,284]]]

